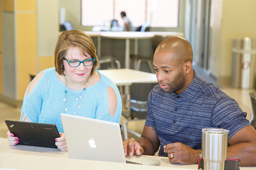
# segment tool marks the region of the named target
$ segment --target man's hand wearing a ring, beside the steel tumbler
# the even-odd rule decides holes
[[[183,143],[176,142],[167,144],[163,147],[164,152],[168,153],[170,163],[195,164],[198,163],[201,150],[194,150]]]

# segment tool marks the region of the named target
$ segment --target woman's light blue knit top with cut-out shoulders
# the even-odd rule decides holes
[[[96,70],[97,71],[97,70]],[[55,74],[55,68],[48,68],[42,71],[44,75],[38,80],[37,84],[26,96],[24,95],[21,116],[23,113],[31,122],[55,124],[59,132],[63,132],[61,123],[61,113],[74,114],[93,119],[106,120],[120,123],[122,114],[122,99],[118,88],[111,79],[99,73],[100,81],[95,85],[81,91],[73,91],[66,87],[66,108],[65,111],[65,86]],[[90,79],[89,79],[90,81]],[[117,109],[114,117],[108,112],[108,91],[111,87],[116,92]],[[82,99],[76,101],[81,96]],[[79,103],[80,102],[80,103]],[[81,107],[78,108],[78,105]]]

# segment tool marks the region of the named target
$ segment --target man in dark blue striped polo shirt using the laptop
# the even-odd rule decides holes
[[[148,116],[142,136],[123,142],[125,155],[168,156],[170,163],[198,163],[201,130],[229,130],[227,158],[241,166],[256,166],[256,130],[236,101],[200,79],[192,69],[193,52],[183,37],[163,40],[154,53],[159,85],[148,96]]]

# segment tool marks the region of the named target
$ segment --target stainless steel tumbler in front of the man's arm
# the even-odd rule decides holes
[[[204,170],[224,170],[227,159],[227,139],[229,130],[208,127],[202,129],[202,157]]]

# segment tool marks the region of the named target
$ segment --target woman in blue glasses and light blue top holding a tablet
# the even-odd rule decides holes
[[[55,124],[61,136],[55,144],[62,151],[67,145],[61,113],[120,123],[119,90],[96,70],[97,65],[96,50],[87,34],[63,32],[55,48],[55,68],[39,73],[26,89],[20,121]],[[10,145],[18,143],[13,133],[7,134]]]

